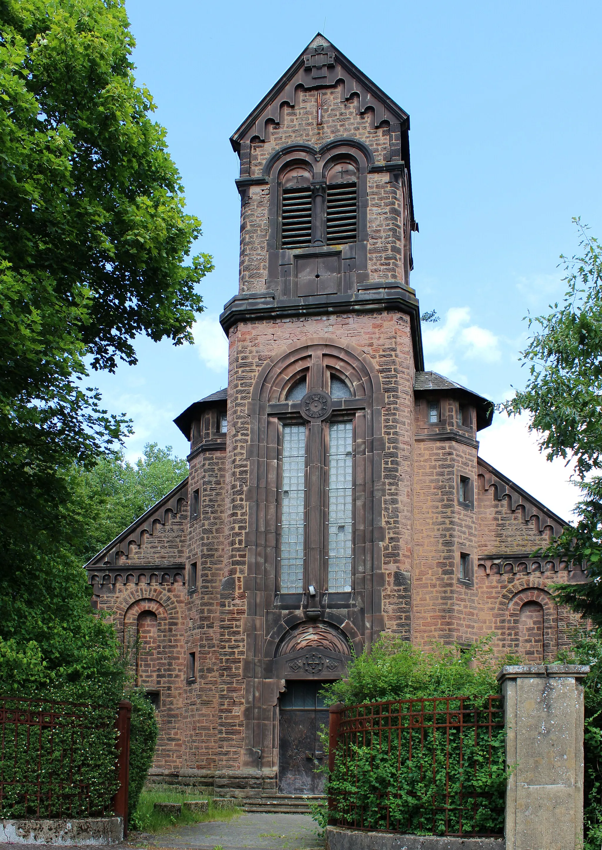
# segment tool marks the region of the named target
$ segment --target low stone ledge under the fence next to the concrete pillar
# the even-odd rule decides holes
[[[327,850],[505,850],[503,838],[404,836],[397,832],[363,832],[327,827]]]

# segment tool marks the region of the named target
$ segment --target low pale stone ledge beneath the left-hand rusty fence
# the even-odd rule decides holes
[[[52,844],[56,847],[87,847],[94,844],[121,844],[122,818],[82,818],[62,820],[2,820],[0,844]]]

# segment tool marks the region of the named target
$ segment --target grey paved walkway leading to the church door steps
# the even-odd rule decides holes
[[[143,834],[135,843],[170,850],[324,850],[318,825],[306,814],[241,814],[176,827],[163,836]]]

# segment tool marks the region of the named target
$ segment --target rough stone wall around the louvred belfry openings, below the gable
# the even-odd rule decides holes
[[[321,90],[322,124],[316,122],[317,92],[299,89],[294,107],[281,108],[280,125],[270,138],[251,144],[251,177],[260,177],[265,162],[287,144],[319,148],[344,135],[365,142],[378,165],[390,159],[389,126],[373,127],[373,113],[358,113],[359,98],[341,101],[339,88]],[[368,174],[368,270],[371,280],[404,280],[403,188],[388,173]],[[268,277],[269,186],[251,186],[241,209],[240,292],[263,292]]]

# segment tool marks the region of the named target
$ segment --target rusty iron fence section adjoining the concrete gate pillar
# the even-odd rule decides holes
[[[502,836],[499,696],[332,706],[329,823],[355,830]]]

